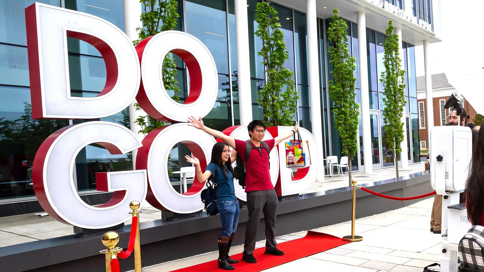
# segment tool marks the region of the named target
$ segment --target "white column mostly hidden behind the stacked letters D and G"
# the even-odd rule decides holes
[[[124,32],[130,38],[132,41],[135,41],[138,39],[138,31],[136,31],[136,28],[139,28],[142,26],[141,24],[141,4],[139,1],[133,1],[133,0],[123,0],[124,4]],[[144,138],[143,134],[138,134],[138,131],[141,129],[141,127],[137,124],[134,123],[136,118],[138,116],[144,116],[146,115],[146,112],[144,110],[136,111],[134,104],[136,103],[136,100],[129,105],[129,124],[130,124],[130,129],[132,132],[134,132],[140,140]],[[136,162],[136,153],[137,150],[133,150],[133,169],[135,168],[135,162]]]

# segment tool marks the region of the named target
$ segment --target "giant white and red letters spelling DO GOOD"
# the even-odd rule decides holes
[[[202,210],[199,194],[205,181],[195,179],[190,190],[179,194],[170,184],[166,163],[171,147],[178,142],[188,146],[202,168],[210,162],[215,139],[183,122],[191,115],[206,116],[215,104],[217,68],[208,48],[180,31],[158,33],[134,48],[124,32],[102,18],[37,2],[25,9],[25,15],[32,118],[97,119],[120,112],[136,98],[151,117],[181,122],[151,131],[142,142],[127,128],[104,121],[84,122],[54,132],[42,143],[33,164],[34,190],[44,210],[65,224],[92,229],[126,221],[133,200],[146,198],[154,207],[172,212]],[[95,97],[70,94],[67,37],[96,47],[106,63],[106,85]],[[163,86],[161,69],[168,53],[178,55],[190,73],[190,95],[183,104],[173,101]],[[268,128],[266,137],[288,129]],[[224,132],[242,140],[248,135],[245,126]],[[301,134],[314,146],[311,159],[315,162],[318,153],[314,137],[304,129]],[[109,201],[96,207],[79,197],[73,179],[76,155],[92,143],[111,154],[138,149],[136,170],[96,173],[97,190],[113,192]],[[290,170],[280,167],[285,164],[283,148],[284,142],[271,152],[271,179],[280,196],[308,188],[318,171],[317,167],[300,169],[291,178]],[[245,200],[242,188],[237,181],[235,184],[237,197]]]

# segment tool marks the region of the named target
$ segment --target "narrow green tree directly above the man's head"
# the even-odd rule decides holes
[[[294,89],[294,74],[284,67],[289,52],[280,29],[277,11],[268,2],[257,3],[256,36],[262,40],[257,53],[263,58],[267,81],[258,91],[258,102],[264,109],[264,123],[267,126],[293,125],[299,99]]]

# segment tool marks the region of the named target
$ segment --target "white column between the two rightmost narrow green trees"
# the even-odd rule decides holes
[[[358,54],[360,55],[360,96],[362,104],[363,163],[364,172],[373,173],[373,149],[371,148],[370,98],[368,94],[368,60],[366,58],[366,19],[364,12],[357,12]],[[376,147],[379,148],[379,147]]]

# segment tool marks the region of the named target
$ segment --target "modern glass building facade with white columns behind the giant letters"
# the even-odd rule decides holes
[[[133,3],[126,3],[130,0],[124,0],[124,5],[123,0],[38,1],[99,16],[128,36],[134,31],[132,26],[138,25],[136,20],[139,22],[141,12],[137,6],[138,13],[130,11],[130,17],[126,16],[128,13],[124,7],[133,6]],[[35,153],[45,138],[68,124],[84,121],[31,119],[24,8],[33,2],[0,0],[0,216],[11,214],[2,213],[1,204],[36,201],[31,168]],[[205,124],[217,130],[263,117],[264,109],[257,102],[257,91],[264,86],[266,79],[262,59],[257,55],[261,41],[254,34],[257,30],[257,2],[178,0],[180,18],[176,30],[188,32],[202,41],[217,66],[218,97],[204,119]],[[406,148],[402,153],[407,160],[402,166],[420,162],[420,139],[423,137],[419,136],[415,46],[423,44],[428,48],[430,43],[440,41],[439,0],[274,0],[271,3],[278,12],[289,52],[284,66],[294,73],[294,84],[300,96],[294,120],[315,135],[324,157],[342,156],[334,126],[333,102],[328,95],[332,67],[328,60],[327,28],[334,8],[340,10],[340,16],[347,20],[348,48],[357,59],[355,91],[361,112],[359,152],[352,158],[352,166],[353,170],[368,173],[373,168],[394,166],[395,163],[384,140],[382,110],[385,105],[382,102],[383,86],[379,82],[384,71],[384,33],[388,21],[393,20],[395,33],[401,37],[402,67],[406,70],[407,86],[406,138],[403,143]],[[246,26],[243,20],[241,23],[237,19],[238,16],[247,18]],[[238,41],[239,37],[243,39]],[[72,38],[67,38],[67,46],[71,94],[96,96],[106,83],[106,66],[100,53],[93,46]],[[183,102],[189,93],[189,75],[181,59],[174,57]],[[117,122],[136,131],[133,121],[141,113],[133,112],[126,108],[101,121]],[[174,170],[186,166],[186,162],[179,158],[187,152],[183,144],[176,145],[168,164]],[[87,146],[76,157],[76,190],[80,195],[97,194],[96,172],[131,170],[132,161],[131,153],[111,155],[98,145]],[[174,183],[179,180],[176,176],[172,178]],[[18,213],[32,212],[27,210]]]

